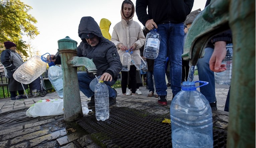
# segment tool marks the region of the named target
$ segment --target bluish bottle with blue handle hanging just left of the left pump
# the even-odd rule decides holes
[[[49,54],[50,53],[46,53]],[[46,55],[44,54],[44,55]],[[62,69],[59,66],[56,66],[54,62],[49,62],[44,55],[41,56],[41,60],[44,62],[47,62],[49,65],[48,69],[48,78],[50,82],[52,83],[54,89],[56,90],[59,97],[63,98],[63,73]]]

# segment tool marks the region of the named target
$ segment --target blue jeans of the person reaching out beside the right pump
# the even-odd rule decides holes
[[[205,98],[209,101],[209,103],[213,103],[216,101],[215,76],[214,76],[214,72],[211,71],[209,68],[209,60],[213,51],[214,51],[213,48],[205,48],[204,57],[198,59],[198,62],[197,62],[199,81],[209,82],[209,84],[200,87],[200,92],[205,96]]]

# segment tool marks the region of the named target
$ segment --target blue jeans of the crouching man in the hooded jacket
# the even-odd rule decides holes
[[[83,94],[86,95],[86,97],[88,98],[93,96],[95,86],[98,83],[97,79],[90,77],[87,72],[77,72],[77,77],[78,77],[79,89],[83,92]],[[100,77],[101,76],[98,76],[97,78],[100,78]],[[112,79],[111,82],[104,81],[104,83],[107,85],[109,97],[114,98],[115,91],[113,88],[111,88],[111,86],[115,84],[115,80]]]

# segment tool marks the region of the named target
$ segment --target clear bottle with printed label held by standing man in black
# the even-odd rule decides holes
[[[143,56],[148,59],[155,59],[159,53],[161,36],[157,33],[157,29],[152,29],[146,36]]]

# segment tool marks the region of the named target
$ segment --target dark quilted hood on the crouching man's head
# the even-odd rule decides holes
[[[83,33],[94,34],[99,38],[103,37],[99,25],[94,18],[90,16],[82,17],[80,20],[80,24],[78,26],[78,36],[81,38]]]

